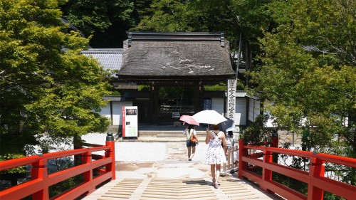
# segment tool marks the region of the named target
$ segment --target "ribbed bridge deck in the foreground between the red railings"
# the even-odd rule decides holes
[[[210,180],[197,179],[122,179],[112,185],[98,200],[117,199],[270,199],[256,192],[244,181],[223,178],[220,189]]]

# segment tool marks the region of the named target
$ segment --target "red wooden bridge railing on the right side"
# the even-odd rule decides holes
[[[249,154],[248,149],[261,152]],[[309,159],[309,172],[287,167],[273,162],[272,154],[286,154]],[[262,157],[263,159],[261,159]],[[328,191],[345,199],[356,199],[356,186],[325,177],[325,162],[340,164],[356,168],[356,159],[340,157],[330,154],[313,154],[293,149],[280,149],[276,147],[260,147],[245,145],[239,141],[239,178],[245,177],[259,184],[261,189],[279,194],[286,199],[322,200],[323,191]],[[261,167],[262,175],[253,172],[251,168]],[[288,186],[273,181],[273,173],[283,174],[286,177],[308,184],[308,196],[295,191]]]

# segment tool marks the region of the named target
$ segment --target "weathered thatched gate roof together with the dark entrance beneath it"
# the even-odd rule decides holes
[[[204,85],[226,83],[236,75],[224,32],[128,32],[123,49],[117,85],[150,87],[145,97],[150,106],[142,105],[147,110],[141,113],[148,113],[152,125],[177,125],[180,116],[203,110],[208,105]]]

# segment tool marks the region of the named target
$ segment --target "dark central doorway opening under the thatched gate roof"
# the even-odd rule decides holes
[[[197,111],[197,88],[192,86],[161,86],[158,93],[158,122],[172,124],[181,115],[194,115]]]

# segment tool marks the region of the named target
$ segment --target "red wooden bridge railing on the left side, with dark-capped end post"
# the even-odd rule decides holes
[[[50,199],[48,187],[61,181],[83,175],[83,183],[68,189],[68,191],[53,196],[51,199],[75,199],[95,191],[96,186],[108,180],[115,179],[115,141],[112,133],[108,133],[105,146],[94,144],[94,147],[74,149],[63,152],[43,154],[42,156],[23,157],[0,162],[0,171],[14,167],[31,165],[31,180],[0,191],[0,199],[23,199],[31,196],[32,199]],[[105,155],[93,152],[105,151]],[[60,172],[48,174],[47,162],[51,159],[81,155],[82,164],[64,169]],[[95,160],[94,160],[95,159]],[[105,167],[104,167],[105,166]],[[93,176],[93,170],[98,169],[98,176]]]

